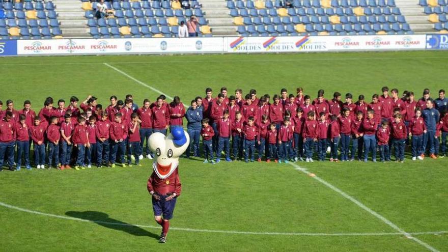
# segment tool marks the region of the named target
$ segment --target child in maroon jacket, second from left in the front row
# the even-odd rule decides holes
[[[17,145],[17,166],[16,171],[20,171],[22,164],[22,154],[25,161],[26,170],[31,170],[30,166],[30,129],[26,123],[26,115],[19,115],[19,123],[16,125],[16,145]],[[34,118],[33,118],[34,120]]]

